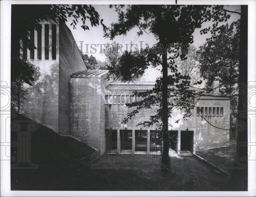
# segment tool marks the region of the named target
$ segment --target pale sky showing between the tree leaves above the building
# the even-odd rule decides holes
[[[118,22],[118,14],[115,12],[114,8],[109,8],[109,5],[92,5],[95,10],[99,13],[100,19],[103,19],[103,24],[107,27],[110,26],[112,22]],[[226,9],[228,10],[239,10],[240,5],[228,5],[225,6]],[[227,23],[231,24],[233,21],[236,21],[240,18],[240,15],[238,14],[231,14],[230,19],[227,21]],[[71,19],[70,19],[71,21]],[[123,48],[122,50],[126,50],[126,46],[128,47],[128,51],[130,50],[130,43],[137,44],[138,48],[142,45],[143,48],[146,47],[146,44],[149,46],[153,46],[153,44],[157,43],[157,40],[155,39],[154,35],[151,34],[149,31],[147,31],[148,34],[144,33],[142,36],[138,37],[137,36],[137,28],[132,29],[127,33],[126,36],[116,36],[114,40],[110,40],[109,38],[104,38],[103,37],[103,27],[97,26],[97,27],[91,27],[90,21],[87,19],[87,25],[90,28],[90,30],[84,31],[82,28],[80,28],[80,24],[82,24],[81,21],[79,21],[76,29],[73,29],[72,26],[70,26],[70,21],[68,21],[66,24],[71,30],[74,40],[77,42],[77,45],[80,46],[79,41],[82,41],[83,43],[83,52],[87,52],[88,56],[91,54],[98,60],[104,61],[105,60],[105,55],[103,53],[100,53],[100,46],[103,47],[101,44],[106,44],[106,43],[112,43],[113,41],[122,44]],[[212,23],[210,21],[204,23],[202,25],[202,28],[209,27],[211,26]],[[221,23],[219,25],[222,25]],[[201,28],[201,29],[202,29]],[[210,33],[205,34],[205,35],[200,35],[200,29],[196,29],[195,32],[193,33],[194,36],[194,43],[193,45],[195,47],[199,47],[203,43],[206,42],[206,38],[209,38],[211,35]],[[88,49],[85,44],[88,45]],[[92,45],[92,47],[90,47]],[[98,47],[96,46],[98,45]],[[134,49],[135,45],[132,46],[132,49]],[[95,49],[93,49],[95,48]],[[161,72],[153,69],[153,68],[148,68],[145,72],[144,80],[145,81],[155,81],[157,76],[160,76]]]

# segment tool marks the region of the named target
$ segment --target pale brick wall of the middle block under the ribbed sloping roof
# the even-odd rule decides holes
[[[71,78],[70,84],[71,135],[102,150],[104,145],[100,147],[100,138],[105,136],[105,108],[102,106],[108,82],[101,78]]]

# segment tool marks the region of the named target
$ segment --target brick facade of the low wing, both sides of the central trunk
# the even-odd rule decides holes
[[[127,86],[128,87],[128,86]],[[151,89],[150,86],[144,87],[135,87],[129,86],[130,89]],[[118,95],[122,91],[120,89],[125,90],[125,86],[116,86],[113,85],[108,86],[108,90],[112,91],[112,94]],[[128,90],[127,90],[128,91]],[[114,93],[116,92],[116,93]],[[110,93],[111,94],[111,93]],[[197,116],[197,107],[223,107],[223,116]],[[131,120],[127,123],[125,127],[128,130],[136,130],[139,129],[136,125],[139,122],[148,121],[150,115],[156,114],[156,110],[158,105],[152,105],[152,109],[142,110],[136,116],[132,117]],[[118,124],[119,129],[123,129],[124,125],[121,124],[121,121],[126,114],[131,111],[131,109],[125,107],[120,104],[106,104],[105,105],[105,117],[106,123],[112,122]],[[192,110],[192,115],[184,121],[180,121],[179,123],[174,123],[177,119],[182,117],[182,112],[180,110],[176,110],[172,114],[172,119],[169,119],[169,123],[173,125],[173,127],[169,126],[168,130],[178,130],[179,131],[179,140],[180,140],[180,131],[189,130],[194,131],[194,150],[201,150],[206,148],[214,148],[220,147],[226,143],[226,135],[228,134],[228,130],[219,129],[216,127],[223,128],[223,126],[229,129],[229,117],[230,117],[230,100],[227,98],[221,97],[209,97],[204,96],[201,97],[198,102],[195,104],[194,110]],[[206,120],[212,124],[211,126]],[[215,127],[214,127],[215,126]],[[108,125],[105,125],[105,129],[108,129]],[[152,126],[150,130],[155,130],[155,127]],[[229,135],[229,134],[228,134]]]

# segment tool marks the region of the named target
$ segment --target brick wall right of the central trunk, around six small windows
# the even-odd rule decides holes
[[[212,99],[212,100],[210,100]],[[197,107],[223,107],[223,116],[201,116],[197,115]],[[180,111],[177,113],[180,114]],[[213,126],[211,126],[205,119]],[[180,121],[175,124],[175,116],[171,122],[173,130],[190,130],[194,131],[194,149],[201,150],[206,148],[220,147],[226,143],[226,133],[228,130],[218,129],[223,126],[229,129],[230,117],[230,100],[220,100],[216,97],[208,97],[207,100],[200,99],[196,104],[192,115],[187,121]],[[216,126],[216,127],[214,127]],[[171,128],[169,128],[170,130]],[[228,134],[229,135],[229,134]]]

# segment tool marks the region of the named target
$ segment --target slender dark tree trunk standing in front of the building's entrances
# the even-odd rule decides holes
[[[162,54],[162,122],[163,122],[163,155],[162,162],[169,169],[169,133],[168,133],[168,70],[167,70],[167,54]]]

